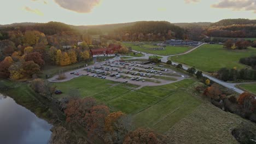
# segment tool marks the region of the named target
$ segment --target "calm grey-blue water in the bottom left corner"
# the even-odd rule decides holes
[[[0,143],[45,144],[51,135],[51,124],[0,94]]]

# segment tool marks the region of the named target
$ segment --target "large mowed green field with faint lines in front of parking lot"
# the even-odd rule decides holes
[[[136,90],[138,86],[135,85],[83,76],[55,83],[57,89],[63,91],[62,96],[55,97],[67,97],[71,89],[77,89],[82,97],[94,97],[109,106],[111,111],[132,115],[135,128],[149,127],[165,133],[201,104],[201,100],[188,90],[195,83],[197,82],[194,80],[186,79],[169,85]]]

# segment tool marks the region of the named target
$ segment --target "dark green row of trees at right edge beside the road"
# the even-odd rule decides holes
[[[256,80],[256,70],[236,68],[228,69],[222,68],[218,71],[218,79],[223,81],[236,81],[236,80]]]

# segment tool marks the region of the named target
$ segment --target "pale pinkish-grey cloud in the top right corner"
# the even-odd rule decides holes
[[[213,8],[249,10],[256,13],[256,0],[222,0],[218,4],[213,4]]]

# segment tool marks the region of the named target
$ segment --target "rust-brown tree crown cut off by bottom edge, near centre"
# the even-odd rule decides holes
[[[148,144],[162,144],[168,143],[165,136],[154,133],[154,131],[144,128],[138,128],[131,131],[125,137],[123,144],[133,143],[148,143]]]

